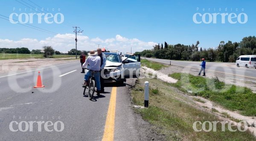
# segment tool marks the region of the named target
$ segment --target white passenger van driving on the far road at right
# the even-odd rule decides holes
[[[236,59],[237,67],[256,68],[256,55],[241,55]]]

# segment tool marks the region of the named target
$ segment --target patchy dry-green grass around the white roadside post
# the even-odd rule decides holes
[[[152,124],[157,134],[165,135],[166,141],[251,141],[256,138],[249,132],[221,132],[221,124],[217,124],[217,131],[195,132],[192,125],[195,121],[221,121],[217,116],[199,110],[189,104],[184,95],[180,95],[168,83],[158,79],[139,79],[131,90],[132,101],[135,105],[143,106],[144,82],[150,84],[149,107],[134,109],[145,121]],[[154,85],[157,84],[157,85]],[[154,90],[158,89],[158,94]],[[182,99],[182,100],[180,100]],[[190,100],[191,102],[191,100]],[[234,129],[236,127],[233,127]],[[198,128],[199,129],[199,128]],[[208,128],[207,128],[208,129]]]

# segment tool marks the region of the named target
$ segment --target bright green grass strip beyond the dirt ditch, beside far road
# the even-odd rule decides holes
[[[239,111],[244,116],[256,116],[256,94],[247,87],[228,85],[218,78],[209,79],[187,73],[172,73],[169,76],[179,80],[171,85],[183,92],[192,91],[192,95],[202,96],[228,110]]]

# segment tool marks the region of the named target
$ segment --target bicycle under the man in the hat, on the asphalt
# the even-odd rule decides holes
[[[96,71],[91,71],[91,75],[89,76],[89,79],[88,79],[88,82],[89,82],[89,85],[86,85],[86,86],[82,86],[84,87],[84,96],[85,96],[85,90],[86,88],[88,89],[88,98],[91,100],[93,98],[93,94],[95,92],[95,80],[94,80],[94,74],[96,73]]]

